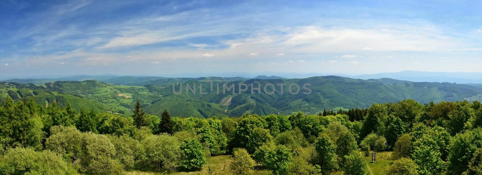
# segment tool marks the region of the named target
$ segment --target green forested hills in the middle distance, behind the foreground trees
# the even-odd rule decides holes
[[[482,88],[454,84],[410,82],[389,78],[381,79],[353,79],[340,76],[315,76],[302,79],[246,79],[241,77],[200,77],[200,78],[140,78],[126,77],[133,84],[145,81],[145,86],[120,86],[101,83],[94,80],[87,81],[58,81],[43,85],[2,83],[0,96],[11,96],[14,100],[22,97],[35,96],[38,104],[56,100],[59,105],[70,101],[86,108],[117,112],[129,116],[135,101],[139,100],[145,111],[150,114],[161,115],[163,109],[170,109],[174,116],[210,117],[240,116],[243,113],[271,114],[303,111],[318,113],[324,109],[364,108],[371,104],[383,102],[397,102],[404,99],[414,99],[420,103],[430,101],[481,100]],[[118,79],[118,81],[123,81]],[[214,88],[211,91],[211,81]],[[254,87],[261,84],[261,92],[254,90],[251,94],[250,84]],[[183,83],[181,94],[173,93],[173,84]],[[223,94],[222,85],[235,84],[234,91]],[[264,92],[266,84],[275,85],[273,94]],[[304,84],[311,89],[310,94],[303,89]],[[189,90],[196,84],[196,94]],[[202,92],[199,93],[199,85]],[[216,84],[220,85],[220,93],[216,92]],[[239,93],[239,84],[247,84],[246,91]],[[278,84],[286,84],[281,93]],[[297,84],[300,92],[290,94],[288,86]],[[179,84],[176,91],[179,91]],[[244,88],[244,87],[243,87]],[[296,87],[293,87],[296,91]],[[268,87],[268,92],[272,87]],[[4,98],[2,98],[4,99]]]

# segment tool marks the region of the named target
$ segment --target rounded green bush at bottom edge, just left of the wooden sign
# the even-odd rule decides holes
[[[344,157],[343,171],[345,175],[366,175],[366,162],[358,151],[351,151]]]

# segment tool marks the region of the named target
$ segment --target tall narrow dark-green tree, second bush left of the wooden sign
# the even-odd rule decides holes
[[[316,164],[321,166],[321,173],[328,174],[338,168],[336,162],[335,145],[330,137],[321,135],[315,143],[315,150],[318,153]]]

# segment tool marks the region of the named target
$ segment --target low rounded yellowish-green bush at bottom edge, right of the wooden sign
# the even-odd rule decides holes
[[[401,158],[387,167],[388,175],[418,175],[418,166],[412,159]]]

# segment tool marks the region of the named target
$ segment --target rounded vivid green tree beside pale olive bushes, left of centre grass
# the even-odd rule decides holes
[[[206,164],[206,158],[202,153],[202,146],[198,140],[189,138],[184,140],[180,146],[181,149],[181,165],[188,169],[200,169]]]

